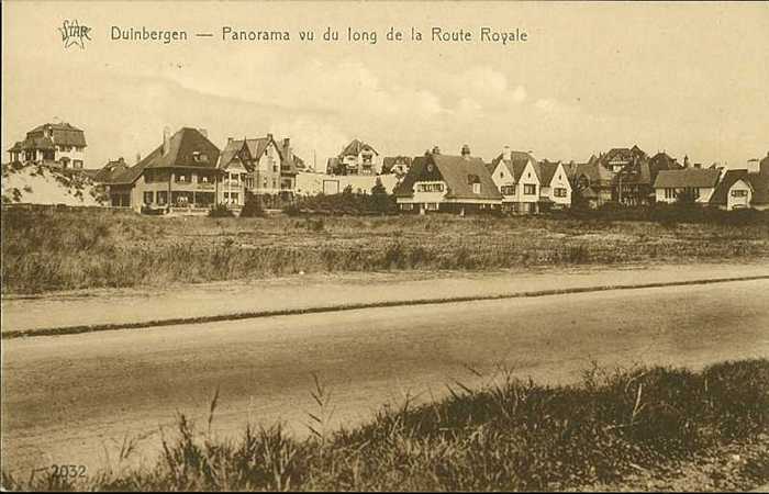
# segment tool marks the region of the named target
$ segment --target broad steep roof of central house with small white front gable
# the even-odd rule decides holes
[[[394,191],[395,195],[411,197],[414,182],[425,171],[428,164],[434,164],[446,182],[447,199],[501,199],[491,173],[480,158],[430,154],[417,156],[411,161],[411,168],[403,182]],[[481,184],[480,193],[472,192],[472,183]]]

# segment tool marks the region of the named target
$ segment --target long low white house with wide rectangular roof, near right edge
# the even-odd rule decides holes
[[[655,200],[673,203],[681,194],[691,194],[698,204],[707,204],[718,184],[721,171],[715,168],[660,170],[654,182]]]

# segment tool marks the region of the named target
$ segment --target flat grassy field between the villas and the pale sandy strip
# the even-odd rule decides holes
[[[769,223],[569,217],[151,217],[2,213],[2,293],[159,287],[300,272],[503,270],[769,258]]]

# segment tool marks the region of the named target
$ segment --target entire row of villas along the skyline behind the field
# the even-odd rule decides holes
[[[769,153],[727,169],[692,165],[688,157],[679,164],[666,153],[648,156],[638,146],[613,148],[581,164],[537,160],[505,146],[486,162],[468,145],[458,155],[442,154],[436,146],[413,158],[381,158],[371,145],[354,139],[328,159],[326,173],[310,173],[290,139],[271,134],[231,137],[220,150],[204,130],[182,127],[171,134],[166,128],[160,145],[133,166],[120,158],[97,170],[83,169],[85,148],[81,130],[53,123],[30,131],[9,154],[11,161],[85,172],[104,187],[112,206],[144,212],[202,213],[214,204],[239,209],[247,194],[285,203],[296,194],[336,193],[344,183],[370,190],[375,179],[388,182],[404,213],[532,214],[573,202],[639,206],[684,198],[725,210],[769,209]],[[319,184],[313,189],[311,182]]]

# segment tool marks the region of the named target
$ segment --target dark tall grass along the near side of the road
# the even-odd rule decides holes
[[[89,490],[570,490],[625,486],[633,475],[662,482],[681,465],[723,448],[759,445],[720,484],[769,481],[769,360],[725,362],[694,373],[594,368],[575,386],[544,386],[508,375],[478,390],[457,384],[442,402],[383,408],[368,424],[311,437],[280,425],[247,428],[218,441],[180,416],[154,467],[105,472],[81,484],[49,476],[5,489]],[[327,392],[315,393],[321,408]],[[211,407],[213,416],[215,403]],[[209,420],[210,429],[210,420]],[[733,449],[732,449],[733,450]],[[760,452],[762,451],[762,452]],[[723,473],[723,472],[716,472]],[[726,476],[726,475],[724,475]],[[705,489],[699,484],[688,490]],[[662,484],[666,485],[666,484]],[[716,487],[718,484],[716,484]],[[665,489],[665,487],[660,487]]]

